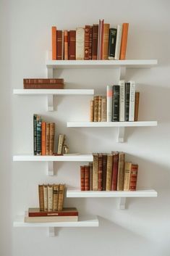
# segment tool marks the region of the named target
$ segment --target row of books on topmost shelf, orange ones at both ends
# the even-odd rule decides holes
[[[52,59],[125,59],[129,23],[111,27],[104,20],[76,30],[51,28]]]

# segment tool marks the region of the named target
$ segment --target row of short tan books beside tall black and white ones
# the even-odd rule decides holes
[[[137,121],[140,92],[135,81],[119,81],[119,85],[107,86],[107,96],[94,96],[90,101],[90,122]]]

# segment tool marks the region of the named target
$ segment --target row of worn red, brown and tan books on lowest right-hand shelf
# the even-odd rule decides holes
[[[138,165],[125,161],[124,152],[93,154],[93,162],[80,166],[81,191],[135,191]]]

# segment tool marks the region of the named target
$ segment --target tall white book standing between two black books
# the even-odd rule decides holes
[[[124,122],[124,104],[125,104],[125,81],[119,81],[120,94],[119,94],[119,121]]]

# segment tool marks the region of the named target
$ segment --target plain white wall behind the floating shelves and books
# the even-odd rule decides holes
[[[169,9],[168,0],[0,1],[1,4],[1,256],[169,256]],[[158,120],[156,128],[127,128],[127,141],[116,143],[116,129],[67,128],[71,120],[88,120],[90,97],[58,97],[56,112],[46,112],[45,97],[12,96],[23,78],[46,78],[46,50],[51,26],[73,29],[104,18],[111,25],[129,22],[127,59],[158,59],[150,70],[128,70],[141,92],[140,120]],[[105,93],[116,83],[112,70],[63,70],[69,88],[95,88]],[[57,163],[56,176],[46,176],[43,162],[12,162],[12,154],[33,152],[33,113],[56,122],[57,135],[67,134],[72,152],[127,152],[140,165],[138,186],[158,191],[158,198],[128,199],[117,210],[116,199],[66,199],[80,213],[98,215],[99,228],[13,228],[14,216],[38,205],[38,183],[79,186],[80,164]]]

